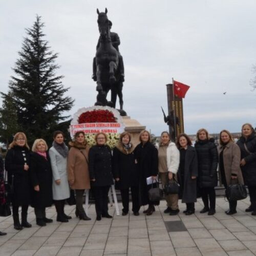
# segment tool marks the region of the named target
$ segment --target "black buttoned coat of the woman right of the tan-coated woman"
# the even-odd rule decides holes
[[[109,146],[92,146],[89,150],[89,172],[92,186],[110,186],[113,182],[112,155]]]

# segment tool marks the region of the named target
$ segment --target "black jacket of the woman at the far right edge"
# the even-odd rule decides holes
[[[240,147],[241,159],[244,159],[246,164],[241,166],[244,182],[248,186],[256,186],[256,135],[251,134],[247,140],[242,136],[237,144]],[[245,150],[245,146],[248,153]]]

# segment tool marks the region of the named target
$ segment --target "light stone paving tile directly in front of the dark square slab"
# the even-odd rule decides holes
[[[170,239],[173,242],[174,248],[177,247],[195,247],[193,239],[190,237],[188,231],[169,232]]]

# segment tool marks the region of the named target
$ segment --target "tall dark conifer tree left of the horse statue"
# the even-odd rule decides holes
[[[26,133],[30,144],[36,138],[52,141],[52,127],[58,127],[59,121],[69,117],[61,114],[69,111],[74,103],[71,97],[64,96],[69,88],[63,87],[63,76],[56,75],[57,53],[50,50],[49,42],[44,39],[44,23],[40,19],[36,16],[32,28],[26,29],[27,37],[18,52],[9,93],[2,93],[4,100],[13,102],[20,131]]]

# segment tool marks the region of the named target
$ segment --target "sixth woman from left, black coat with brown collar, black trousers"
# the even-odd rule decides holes
[[[131,134],[123,132],[120,141],[113,150],[114,177],[122,198],[122,216],[129,212],[129,188],[131,187],[133,213],[139,215],[139,176],[136,172],[134,146],[130,142]]]

